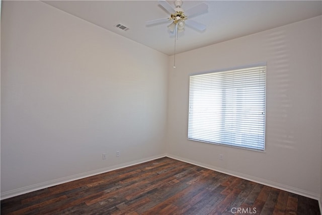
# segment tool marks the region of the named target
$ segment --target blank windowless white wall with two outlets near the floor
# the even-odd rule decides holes
[[[2,10],[2,197],[165,154],[167,55],[38,1]]]

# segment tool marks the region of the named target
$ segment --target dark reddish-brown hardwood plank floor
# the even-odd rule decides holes
[[[1,201],[1,214],[320,214],[317,200],[170,158]]]

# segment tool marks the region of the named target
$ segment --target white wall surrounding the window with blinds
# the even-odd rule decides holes
[[[177,68],[169,66],[167,153],[318,198],[321,56],[321,17],[178,54]],[[187,140],[189,74],[263,61],[267,62],[265,153]]]

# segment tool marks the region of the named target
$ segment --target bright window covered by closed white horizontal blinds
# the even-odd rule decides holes
[[[188,139],[265,149],[266,64],[191,75]]]

